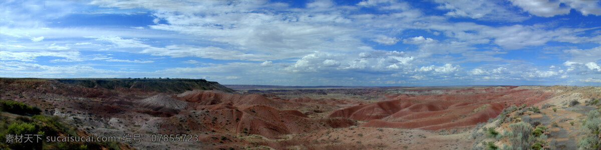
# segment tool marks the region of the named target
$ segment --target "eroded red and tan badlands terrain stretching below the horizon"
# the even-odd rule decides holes
[[[0,112],[2,130],[29,122],[44,136],[118,139],[44,143],[44,149],[599,149],[601,127],[594,124],[601,88],[593,86],[224,86],[202,79],[3,78],[0,94],[41,110],[38,116]],[[0,131],[0,138],[15,134],[10,131]],[[124,134],[140,134],[145,142],[124,143]],[[198,141],[151,142],[153,134],[194,134]],[[1,140],[0,148],[22,146]]]

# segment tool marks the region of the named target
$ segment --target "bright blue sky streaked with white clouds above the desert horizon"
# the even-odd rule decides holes
[[[601,85],[599,1],[0,2],[0,77]]]

